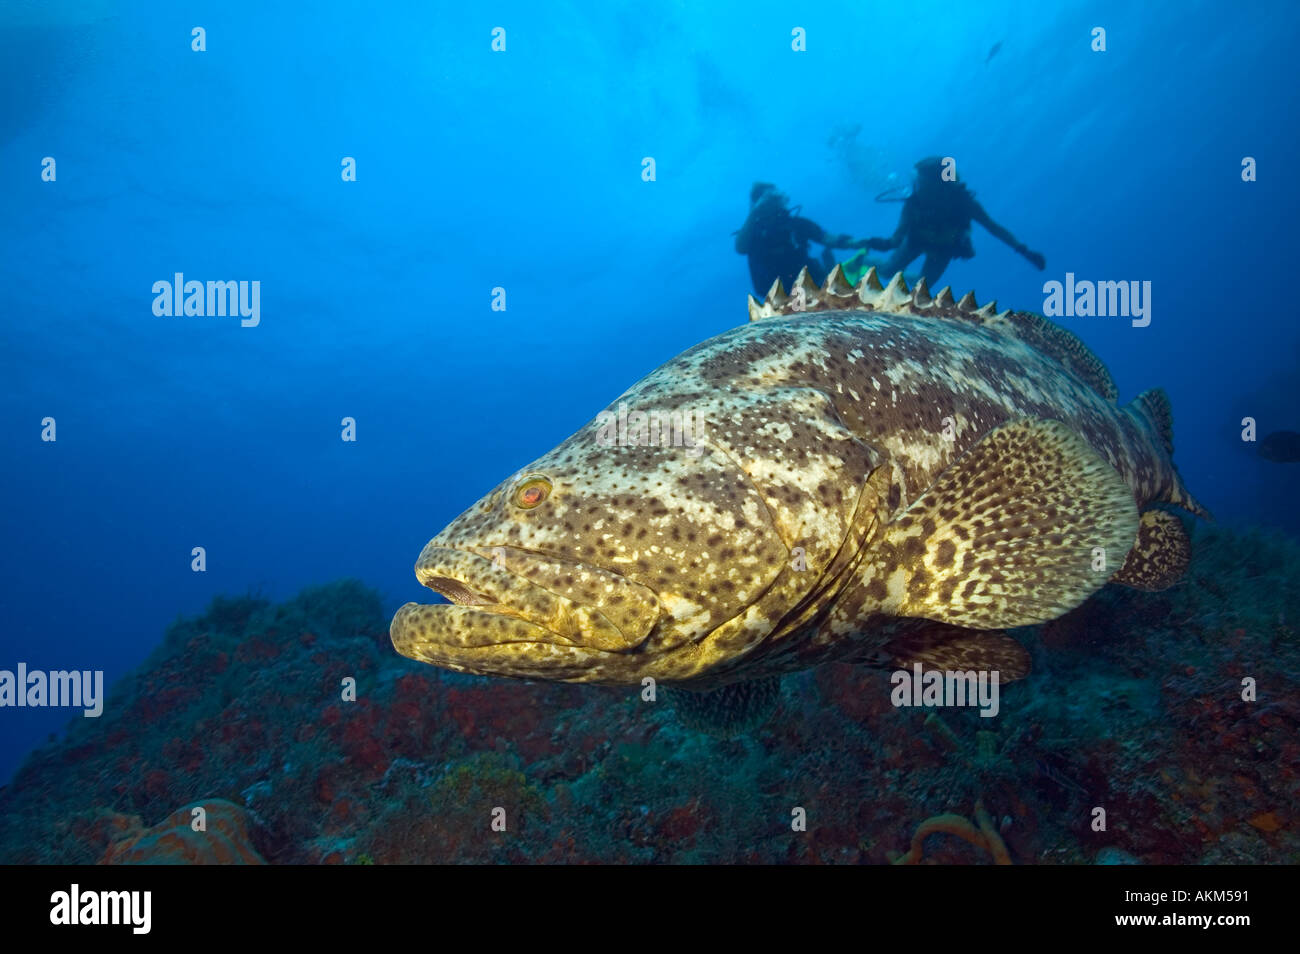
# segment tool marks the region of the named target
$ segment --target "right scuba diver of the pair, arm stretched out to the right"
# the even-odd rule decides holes
[[[888,279],[894,272],[902,272],[914,259],[924,255],[922,276],[930,287],[935,287],[949,261],[975,257],[975,250],[971,247],[972,221],[983,225],[994,238],[1028,259],[1040,272],[1046,266],[1039,252],[1031,251],[1018,242],[1015,235],[989,218],[984,207],[975,201],[975,194],[966,188],[959,178],[944,179],[942,170],[944,161],[939,156],[930,156],[916,162],[916,181],[911,195],[902,200],[898,229],[887,239],[872,238],[859,243],[861,248],[897,250],[884,265],[879,266],[881,278]]]

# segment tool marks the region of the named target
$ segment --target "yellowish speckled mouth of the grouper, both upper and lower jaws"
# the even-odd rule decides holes
[[[411,659],[480,675],[595,680],[601,656],[636,651],[659,620],[653,590],[599,567],[434,543],[420,554],[416,577],[451,604],[398,610],[389,634]]]

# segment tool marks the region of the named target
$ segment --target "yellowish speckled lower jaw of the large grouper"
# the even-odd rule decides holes
[[[606,682],[624,658],[577,646],[536,623],[473,606],[407,603],[389,626],[408,659],[477,676]]]

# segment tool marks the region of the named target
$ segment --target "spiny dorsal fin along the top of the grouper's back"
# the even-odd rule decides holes
[[[881,285],[872,265],[862,281],[853,286],[845,279],[844,270],[836,265],[819,289],[805,268],[800,270],[789,295],[777,278],[762,302],[755,302],[753,295],[749,296],[750,321],[832,311],[894,312],[975,321],[1001,328],[1030,347],[1060,361],[1106,400],[1115,400],[1119,396],[1106,365],[1072,331],[1032,312],[1000,313],[997,302],[988,302],[982,307],[975,302],[972,291],[954,300],[952,289],[945,286],[937,295],[931,295],[924,278],[918,279],[916,286],[909,290],[902,272],[896,273],[888,285]]]

